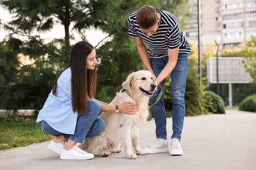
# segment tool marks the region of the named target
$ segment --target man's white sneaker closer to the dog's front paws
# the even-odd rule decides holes
[[[160,139],[156,139],[150,146],[143,148],[148,154],[156,154],[156,153],[163,153],[168,152],[168,143],[163,144]]]

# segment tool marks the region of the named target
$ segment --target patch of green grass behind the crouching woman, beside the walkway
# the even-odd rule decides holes
[[[41,143],[50,139],[51,135],[43,132],[31,118],[0,116],[0,150]]]

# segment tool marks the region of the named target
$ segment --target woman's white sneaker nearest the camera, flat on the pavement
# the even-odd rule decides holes
[[[73,146],[71,150],[62,150],[62,154],[60,155],[60,160],[90,160],[95,158],[93,154],[82,150],[77,145]]]

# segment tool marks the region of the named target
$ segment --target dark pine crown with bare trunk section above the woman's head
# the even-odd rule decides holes
[[[118,11],[121,1],[67,1],[67,0],[16,0],[1,1],[1,5],[15,14],[9,24],[19,33],[28,34],[49,31],[54,24],[64,26],[64,42],[70,45],[70,30],[81,31],[91,26],[104,27],[110,22],[110,16]]]

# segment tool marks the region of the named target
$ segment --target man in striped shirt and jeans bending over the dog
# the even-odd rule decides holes
[[[179,29],[173,14],[144,5],[128,18],[129,36],[134,37],[144,67],[154,73],[156,85],[164,87],[165,78],[171,74],[171,101],[173,103],[173,134],[171,146],[167,143],[166,114],[163,94],[152,108],[156,123],[156,140],[144,148],[148,154],[169,152],[182,155],[181,132],[184,122],[186,73],[190,46]],[[147,42],[148,48],[143,41]],[[150,98],[153,104],[161,92],[160,88]]]

